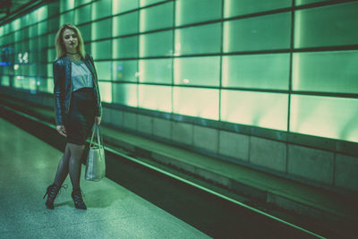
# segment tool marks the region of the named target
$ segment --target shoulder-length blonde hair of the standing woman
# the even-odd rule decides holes
[[[64,30],[66,29],[73,30],[76,33],[78,38],[77,52],[82,56],[82,58],[84,58],[86,52],[84,51],[84,44],[83,44],[83,38],[81,36],[81,31],[71,23],[65,23],[60,27],[60,29],[57,31],[57,34],[55,36],[55,48],[56,48],[55,60],[66,55],[66,47],[64,47],[64,36],[63,36]]]

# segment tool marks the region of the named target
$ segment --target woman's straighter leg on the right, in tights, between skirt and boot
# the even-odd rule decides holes
[[[71,151],[70,157],[70,177],[73,190],[80,189],[80,175],[81,175],[81,156],[83,153],[84,145],[77,145],[73,143],[67,143]]]

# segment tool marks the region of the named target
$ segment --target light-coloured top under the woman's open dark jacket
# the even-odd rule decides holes
[[[84,87],[93,87],[92,73],[84,62],[72,62],[72,92]]]

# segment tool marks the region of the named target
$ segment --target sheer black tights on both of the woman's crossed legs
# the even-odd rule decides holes
[[[57,173],[55,175],[55,184],[57,186],[61,186],[64,183],[64,179],[70,172],[72,189],[80,189],[81,156],[83,149],[84,145],[66,144],[64,156],[58,164]]]

